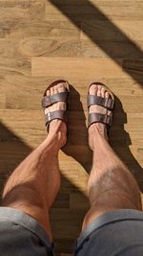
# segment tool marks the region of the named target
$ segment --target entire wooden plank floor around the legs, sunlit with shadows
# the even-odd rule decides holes
[[[46,137],[47,84],[72,84],[69,141],[60,152],[62,186],[51,210],[60,256],[69,256],[89,207],[88,85],[116,96],[110,141],[143,191],[143,1],[0,1],[0,180]]]

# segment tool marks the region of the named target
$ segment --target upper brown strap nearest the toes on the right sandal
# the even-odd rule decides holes
[[[90,107],[91,105],[102,105],[112,110],[114,105],[114,100],[112,100],[112,98],[102,98],[99,96],[88,94],[88,107]]]

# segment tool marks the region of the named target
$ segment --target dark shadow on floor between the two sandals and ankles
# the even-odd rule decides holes
[[[80,94],[70,84],[68,143],[62,149],[72,156],[89,174],[92,168],[92,151],[88,147],[86,116]]]

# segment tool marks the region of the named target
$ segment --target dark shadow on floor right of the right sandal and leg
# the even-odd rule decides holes
[[[113,150],[127,165],[134,175],[141,192],[143,192],[143,172],[141,166],[133,156],[130,146],[132,141],[130,134],[124,129],[124,125],[128,123],[127,114],[123,109],[120,100],[115,96],[115,111],[113,113],[113,122],[110,135],[110,142]]]

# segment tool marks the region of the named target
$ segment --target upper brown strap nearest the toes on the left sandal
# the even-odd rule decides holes
[[[68,96],[69,91],[59,92],[50,96],[44,96],[42,99],[42,107],[45,108],[58,102],[67,103]]]

